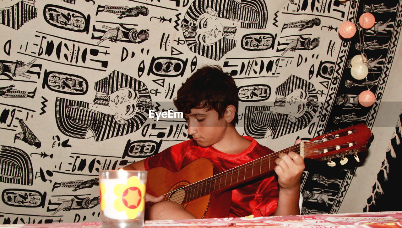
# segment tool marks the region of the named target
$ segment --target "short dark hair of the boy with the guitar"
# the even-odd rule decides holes
[[[235,117],[231,122],[238,123],[237,86],[230,74],[223,72],[217,65],[203,66],[195,71],[177,91],[173,100],[177,110],[189,114],[192,108],[215,110],[222,118],[229,105],[236,107]]]

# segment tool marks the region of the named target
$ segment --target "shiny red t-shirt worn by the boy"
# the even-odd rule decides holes
[[[226,154],[211,146],[200,147],[193,140],[188,140],[146,158],[144,166],[146,170],[164,167],[177,172],[198,158],[208,158],[213,164],[215,175],[273,153],[269,148],[258,144],[254,138],[243,137],[250,140],[251,144],[239,154]],[[232,191],[229,217],[244,217],[251,214],[270,216],[275,212],[279,194],[278,183],[272,174],[264,178],[251,181],[246,186]]]

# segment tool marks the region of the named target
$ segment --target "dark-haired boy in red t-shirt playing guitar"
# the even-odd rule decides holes
[[[240,136],[236,131],[237,87],[233,78],[219,66],[198,69],[177,91],[174,105],[184,113],[188,134],[193,139],[134,162],[125,170],[162,166],[176,172],[197,158],[208,158],[213,163],[214,174],[217,174],[273,153],[252,137]],[[232,190],[229,217],[299,214],[304,160],[295,152],[281,153],[275,164],[278,180],[268,174]],[[156,203],[148,210],[150,220],[195,218],[180,204],[160,202],[161,196],[147,194],[146,200]]]

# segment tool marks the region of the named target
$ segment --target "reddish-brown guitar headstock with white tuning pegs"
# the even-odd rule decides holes
[[[367,126],[358,124],[317,136],[308,142],[302,142],[300,155],[304,158],[328,162],[332,158],[343,158],[346,155],[355,155],[357,158],[356,154],[366,151],[373,138],[374,136]],[[334,166],[334,164],[330,166]]]

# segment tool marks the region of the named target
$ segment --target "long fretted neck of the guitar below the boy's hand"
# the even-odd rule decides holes
[[[293,147],[292,150],[297,151],[297,147]],[[222,192],[233,188],[238,184],[263,176],[273,170],[275,167],[275,159],[278,157],[279,153],[288,152],[289,149],[274,152],[241,166],[237,166],[199,182],[185,186],[183,189],[186,191],[186,196],[183,203],[214,192]]]

